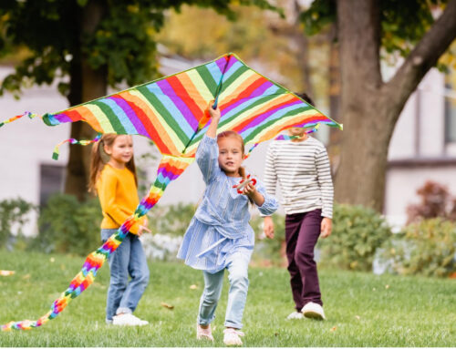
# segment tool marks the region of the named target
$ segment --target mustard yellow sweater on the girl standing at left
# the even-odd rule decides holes
[[[97,193],[103,221],[101,229],[117,229],[135,211],[140,203],[135,177],[130,169],[114,169],[109,164],[101,170],[97,180]],[[130,232],[137,234],[143,219],[134,224]]]

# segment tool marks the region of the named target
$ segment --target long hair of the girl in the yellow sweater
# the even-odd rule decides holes
[[[112,147],[114,145],[115,140],[120,135],[115,133],[106,133],[104,134],[98,142],[94,143],[92,146],[92,154],[90,157],[90,176],[88,179],[88,192],[91,192],[97,195],[97,180],[101,171],[105,168],[106,163],[108,162],[105,157],[109,157],[108,154],[105,153],[104,146]],[[135,166],[135,159],[131,157],[130,161],[125,164],[127,169],[130,169],[131,173],[135,177],[135,183],[138,187],[138,178],[136,176],[136,166]]]

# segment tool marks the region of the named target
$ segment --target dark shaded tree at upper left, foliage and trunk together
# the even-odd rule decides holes
[[[3,0],[0,56],[20,51],[15,73],[5,77],[0,95],[33,84],[58,82],[70,106],[107,94],[107,87],[133,86],[158,77],[155,34],[164,13],[181,5],[212,7],[232,16],[232,2],[273,7],[266,0]],[[92,139],[86,123],[71,125],[71,138]],[[65,192],[85,199],[88,147],[70,147]]]

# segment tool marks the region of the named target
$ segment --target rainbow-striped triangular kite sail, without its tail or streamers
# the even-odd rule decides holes
[[[204,110],[217,100],[219,131],[232,129],[248,143],[273,139],[285,128],[341,126],[291,92],[247,67],[234,54],[56,114],[47,125],[86,121],[99,133],[141,135],[161,154],[193,157],[205,133]]]

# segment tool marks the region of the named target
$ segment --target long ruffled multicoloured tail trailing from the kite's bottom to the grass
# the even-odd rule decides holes
[[[0,326],[2,331],[11,330],[30,330],[34,327],[39,327],[49,320],[57,317],[57,315],[67,307],[73,299],[83,293],[94,282],[98,269],[101,268],[109,258],[109,255],[116,251],[120,243],[125,239],[133,224],[140,220],[163,195],[171,180],[176,180],[181,173],[192,163],[193,158],[176,158],[171,156],[163,156],[159,169],[157,171],[157,179],[150,188],[149,194],[140,201],[140,204],[135,210],[133,216],[120,226],[119,230],[113,233],[109,239],[88,255],[82,269],[69,283],[67,290],[60,294],[54,303],[51,310],[41,316],[36,321],[23,320],[19,322],[10,322]]]

